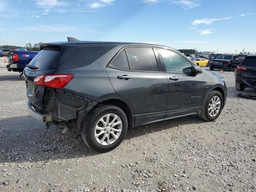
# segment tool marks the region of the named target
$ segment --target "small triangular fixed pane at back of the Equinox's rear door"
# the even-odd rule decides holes
[[[125,50],[123,49],[109,65],[111,68],[130,70]]]

